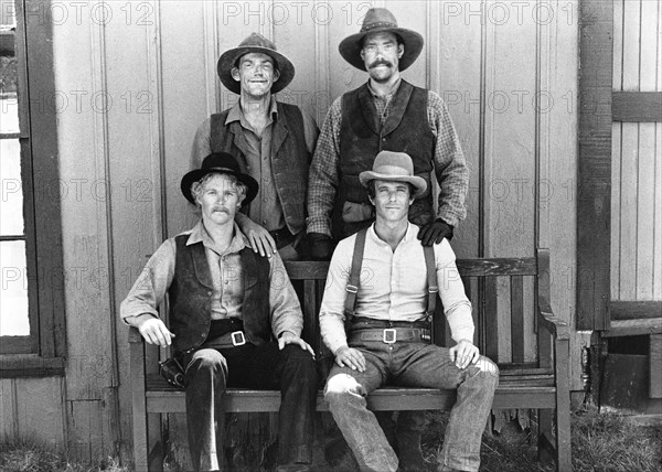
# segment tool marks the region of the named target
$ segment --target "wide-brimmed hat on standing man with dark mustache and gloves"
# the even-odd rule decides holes
[[[397,20],[385,8],[372,8],[365,14],[361,31],[345,37],[338,46],[340,55],[361,71],[365,71],[365,64],[361,58],[361,49],[363,47],[363,40],[369,33],[394,33],[401,36],[405,45],[405,53],[399,60],[399,71],[404,71],[414,64],[423,50],[423,36],[420,34],[405,28],[397,28]]]

